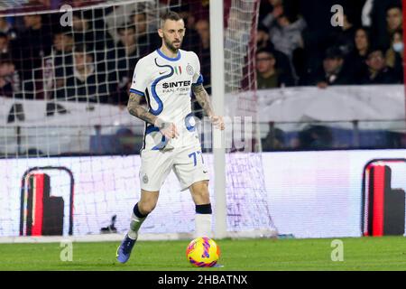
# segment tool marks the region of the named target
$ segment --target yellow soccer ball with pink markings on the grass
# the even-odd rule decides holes
[[[186,257],[192,266],[212,267],[217,264],[220,248],[212,238],[200,237],[192,240],[186,248]]]

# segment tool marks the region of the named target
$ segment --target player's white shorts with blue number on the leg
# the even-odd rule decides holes
[[[144,191],[160,191],[173,169],[185,191],[195,182],[208,180],[208,169],[200,146],[180,147],[171,151],[141,152],[140,183]]]

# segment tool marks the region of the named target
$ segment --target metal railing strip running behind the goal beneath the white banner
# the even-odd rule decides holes
[[[406,147],[406,121],[260,123],[263,151]],[[143,126],[0,126],[0,157],[138,154]],[[201,131],[204,152],[211,137]],[[233,151],[231,149],[231,151]]]

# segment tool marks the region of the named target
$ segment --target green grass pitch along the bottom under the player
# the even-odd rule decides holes
[[[130,261],[115,261],[119,242],[73,243],[73,260],[61,261],[59,243],[0,244],[0,270],[406,270],[406,239],[340,238],[344,261],[333,262],[333,239],[224,239],[222,268],[194,268],[188,241],[139,241]]]

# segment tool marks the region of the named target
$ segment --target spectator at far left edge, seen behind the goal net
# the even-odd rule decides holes
[[[15,65],[7,54],[0,54],[0,96],[14,97],[21,92],[20,76]]]

